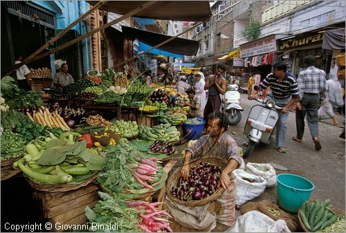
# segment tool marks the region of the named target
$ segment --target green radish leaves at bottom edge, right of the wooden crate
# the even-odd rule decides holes
[[[100,201],[93,209],[89,206],[85,207],[86,218],[92,223],[98,225],[118,225],[118,230],[109,229],[107,232],[141,232],[136,223],[140,223],[138,210],[127,207],[127,203],[116,195],[109,195],[103,192],[98,192]],[[93,229],[89,227],[90,232],[104,232],[99,227]]]

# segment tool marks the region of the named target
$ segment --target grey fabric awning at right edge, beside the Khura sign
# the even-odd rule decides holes
[[[323,49],[338,50],[345,49],[345,28],[326,30],[323,35]]]

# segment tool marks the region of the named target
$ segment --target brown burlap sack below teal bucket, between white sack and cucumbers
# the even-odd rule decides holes
[[[274,214],[272,214],[268,207],[273,208],[277,211],[280,211],[280,216],[275,216]],[[240,212],[242,214],[245,214],[247,212],[253,211],[253,210],[257,210],[262,212],[263,214],[266,214],[266,216],[272,218],[273,220],[277,221],[277,219],[282,219],[286,222],[287,226],[289,227],[289,230],[291,230],[291,232],[297,232],[298,230],[298,224],[295,223],[295,221],[293,220],[293,216],[289,215],[288,213],[284,212],[284,210],[280,209],[277,205],[274,205],[273,203],[271,203],[270,201],[260,201],[258,203],[256,202],[248,202],[245,205],[242,205],[240,207]]]

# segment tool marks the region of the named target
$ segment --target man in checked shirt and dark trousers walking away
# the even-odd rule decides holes
[[[318,138],[318,106],[320,100],[325,99],[326,92],[326,74],[315,66],[316,57],[304,57],[304,64],[307,67],[304,71],[300,71],[298,75],[298,87],[300,101],[297,102],[295,112],[295,124],[297,127],[297,136],[292,139],[296,142],[302,142],[304,135],[304,118],[307,113],[307,124],[309,125],[310,133],[313,142],[315,143],[316,151],[322,147]]]

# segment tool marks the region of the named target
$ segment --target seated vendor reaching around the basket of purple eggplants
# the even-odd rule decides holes
[[[181,176],[188,179],[190,174],[190,159],[201,158],[202,156],[215,156],[227,160],[227,166],[221,173],[218,187],[228,189],[230,186],[230,174],[234,169],[242,165],[242,158],[237,151],[237,142],[225,133],[228,123],[226,117],[221,112],[214,112],[208,115],[208,134],[202,136],[190,148],[185,149],[186,153],[183,157],[183,169]]]

